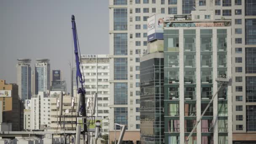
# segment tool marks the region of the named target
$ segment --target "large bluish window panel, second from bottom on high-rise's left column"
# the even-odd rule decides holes
[[[127,83],[114,83],[114,104],[128,104]]]

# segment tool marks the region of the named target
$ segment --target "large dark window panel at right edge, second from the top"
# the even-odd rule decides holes
[[[256,45],[256,19],[245,19],[245,44]]]

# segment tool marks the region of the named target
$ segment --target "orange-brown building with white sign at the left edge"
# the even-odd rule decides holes
[[[0,80],[0,101],[2,101],[3,123],[12,123],[12,131],[21,131],[21,110],[18,85],[6,84]]]

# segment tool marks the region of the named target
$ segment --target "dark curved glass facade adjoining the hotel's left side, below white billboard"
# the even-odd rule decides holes
[[[163,144],[163,58],[142,61],[140,65],[141,144]]]

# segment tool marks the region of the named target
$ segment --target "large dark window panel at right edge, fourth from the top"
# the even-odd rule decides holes
[[[245,77],[246,102],[256,102],[256,77]]]

